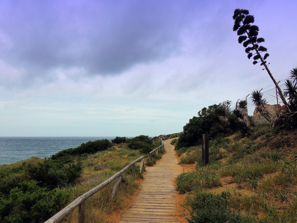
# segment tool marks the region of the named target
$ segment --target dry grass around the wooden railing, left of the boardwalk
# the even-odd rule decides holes
[[[75,186],[65,188],[71,194],[69,202],[104,182],[140,156],[142,154],[139,150],[130,150],[123,145],[87,156],[83,161],[83,174]],[[140,163],[137,163],[135,176],[132,174],[132,167],[124,172],[127,183],[122,183],[113,200],[110,199],[110,194],[116,181],[86,200],[86,222],[105,222],[106,217],[113,211],[121,210],[129,203],[129,197],[139,187],[137,181],[143,178],[139,167]],[[75,209],[64,222],[77,222],[77,218],[78,210]]]

